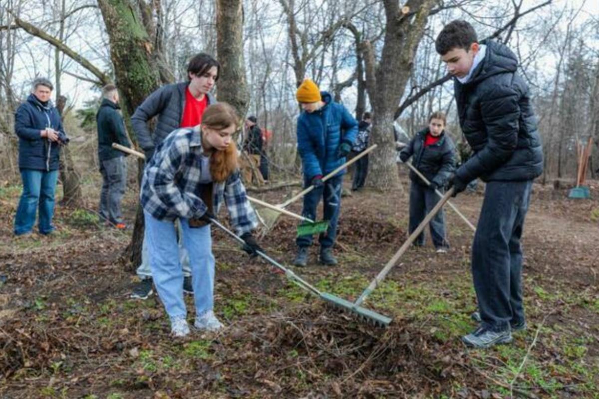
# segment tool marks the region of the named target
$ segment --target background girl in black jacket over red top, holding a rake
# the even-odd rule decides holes
[[[447,179],[455,169],[455,145],[444,131],[445,124],[443,112],[432,113],[428,118],[428,127],[416,133],[400,153],[401,162],[406,162],[413,156],[412,164],[431,182],[426,185],[415,172],[410,172],[410,234],[437,204],[439,196],[435,190],[443,192]],[[429,226],[437,252],[447,252],[449,243],[445,237],[443,209],[432,218]],[[424,245],[424,232],[420,233],[414,245]]]

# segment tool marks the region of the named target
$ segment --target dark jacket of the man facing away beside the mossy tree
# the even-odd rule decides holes
[[[113,143],[131,148],[131,143],[125,133],[123,117],[117,111],[119,106],[108,99],[103,99],[96,114],[98,124],[98,158],[101,161],[122,157],[122,151],[112,148]]]

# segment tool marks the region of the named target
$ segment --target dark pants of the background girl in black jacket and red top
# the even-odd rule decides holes
[[[443,192],[443,188],[438,188],[438,190],[441,193]],[[426,215],[432,211],[432,208],[437,205],[439,200],[440,198],[437,193],[430,188],[416,182],[410,184],[410,234],[422,223]],[[431,229],[432,243],[435,248],[447,248],[449,243],[445,238],[445,214],[443,208],[431,219],[428,226]],[[424,231],[416,238],[415,245],[424,245]]]

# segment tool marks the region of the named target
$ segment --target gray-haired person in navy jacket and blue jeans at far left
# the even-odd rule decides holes
[[[52,217],[59,147],[66,144],[68,138],[58,110],[50,100],[53,89],[52,83],[46,78],[36,79],[31,94],[17,108],[14,117],[14,129],[19,136],[19,170],[23,181],[23,193],[14,218],[14,234],[17,236],[31,233],[38,208],[40,233],[50,234],[55,229]]]

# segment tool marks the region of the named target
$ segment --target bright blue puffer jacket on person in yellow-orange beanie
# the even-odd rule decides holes
[[[358,136],[358,121],[331,95],[321,92],[325,105],[318,111],[302,111],[298,118],[298,151],[304,169],[304,178],[326,175],[345,163],[337,157],[341,142],[352,145]],[[345,173],[344,170],[339,174]]]

